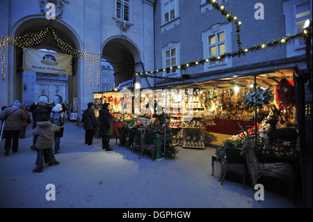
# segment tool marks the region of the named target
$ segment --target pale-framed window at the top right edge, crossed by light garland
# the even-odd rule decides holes
[[[307,19],[311,18],[310,1],[304,1],[294,5],[294,29],[295,33],[300,33]],[[296,47],[304,47],[304,38],[296,39]]]

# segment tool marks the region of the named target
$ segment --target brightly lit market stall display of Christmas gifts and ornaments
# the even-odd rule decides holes
[[[259,150],[268,154],[275,150],[276,155],[283,153],[286,157],[296,154],[294,150],[286,151],[289,150],[286,144],[290,145],[291,142],[289,138],[298,135],[295,131],[296,109],[291,77],[282,77],[271,84],[264,80],[271,78],[243,79],[237,81],[240,84],[236,83],[236,79],[231,84],[230,80],[220,81],[220,86],[225,88],[212,84],[208,88],[172,88],[148,90],[145,93],[144,90],[129,90],[128,94],[114,91],[95,93],[95,104],[109,102],[114,122],[122,122],[123,127],[131,129],[138,125],[154,125],[156,134],[164,134],[162,126],[166,125],[166,130],[172,133],[173,146],[203,149],[210,146],[212,141],[218,141],[216,134],[223,134],[230,136],[227,143],[232,141],[234,147],[240,147],[240,126],[246,126],[248,132],[253,134],[257,122],[259,141],[265,144]],[[242,84],[243,81],[245,84]],[[294,130],[289,130],[290,134],[286,133],[288,129],[281,129],[291,127]],[[280,152],[275,149],[278,145],[273,145],[274,141],[284,142],[279,147]],[[274,149],[270,149],[270,144]],[[285,152],[282,152],[281,147]]]

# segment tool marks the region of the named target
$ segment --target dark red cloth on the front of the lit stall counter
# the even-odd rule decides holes
[[[247,127],[255,126],[255,121],[228,120],[228,119],[214,119],[213,121],[216,125],[207,126],[207,132],[237,135],[241,131],[238,122],[243,127],[243,129],[245,127],[245,122]]]

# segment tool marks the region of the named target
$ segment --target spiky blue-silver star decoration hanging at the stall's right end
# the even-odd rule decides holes
[[[247,95],[243,95],[243,104],[246,106],[252,107],[260,107],[264,106],[265,104],[269,104],[268,100],[274,100],[271,96],[273,90],[262,90],[261,88],[257,88],[256,90],[249,90]]]

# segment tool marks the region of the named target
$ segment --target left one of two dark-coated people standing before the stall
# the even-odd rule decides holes
[[[83,111],[82,115],[83,129],[85,129],[85,143],[88,145],[93,144],[93,135],[95,134],[95,129],[97,127],[97,121],[93,109],[95,109],[95,104],[89,102],[88,109]]]

